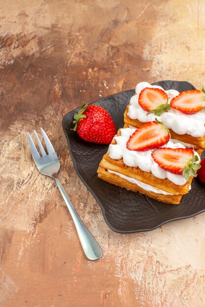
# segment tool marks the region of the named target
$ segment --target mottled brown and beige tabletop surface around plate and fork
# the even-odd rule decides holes
[[[205,214],[118,234],[77,177],[61,119],[137,82],[205,84],[204,0],[0,0],[0,307],[203,307]],[[42,126],[59,178],[103,249],[88,261],[26,132]]]

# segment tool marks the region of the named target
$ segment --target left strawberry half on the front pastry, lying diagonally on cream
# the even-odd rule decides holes
[[[127,149],[145,152],[163,146],[169,139],[169,130],[162,123],[148,122],[130,136]]]

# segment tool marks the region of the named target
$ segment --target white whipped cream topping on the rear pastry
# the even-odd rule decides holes
[[[175,109],[170,109],[168,112],[164,112],[161,116],[156,116],[154,113],[149,114],[145,111],[138,103],[140,92],[146,88],[160,88],[164,91],[161,86],[151,85],[148,82],[140,82],[136,86],[136,94],[130,99],[130,105],[128,110],[128,116],[131,119],[138,119],[142,123],[154,121],[157,118],[159,121],[163,122],[164,125],[175,131],[177,134],[189,134],[194,137],[202,137],[205,134],[205,110],[202,109],[196,114],[184,114]],[[179,92],[176,90],[165,91],[168,95],[168,102],[176,97]]]

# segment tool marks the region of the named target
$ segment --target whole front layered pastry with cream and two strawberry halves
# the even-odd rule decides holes
[[[97,173],[117,186],[176,205],[191,189],[201,153],[174,144],[169,130],[152,121],[137,129],[119,129]]]

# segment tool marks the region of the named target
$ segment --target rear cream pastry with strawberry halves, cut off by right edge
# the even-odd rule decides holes
[[[138,83],[124,113],[125,127],[138,128],[157,118],[170,129],[173,142],[205,148],[205,91],[179,93],[161,86]]]

